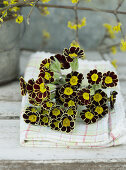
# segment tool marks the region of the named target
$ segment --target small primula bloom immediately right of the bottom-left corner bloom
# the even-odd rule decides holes
[[[48,114],[41,114],[40,115],[40,126],[48,126],[49,125],[49,115]]]

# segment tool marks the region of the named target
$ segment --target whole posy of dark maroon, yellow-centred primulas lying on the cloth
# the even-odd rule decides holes
[[[78,59],[84,60],[84,56],[78,46],[64,49],[62,54],[42,60],[36,80],[20,78],[21,94],[28,95],[29,100],[23,114],[25,123],[69,133],[76,126],[77,115],[85,124],[91,124],[114,109],[118,93],[112,87],[117,86],[117,75],[94,69],[84,77],[78,72]],[[65,69],[72,71],[65,75]]]

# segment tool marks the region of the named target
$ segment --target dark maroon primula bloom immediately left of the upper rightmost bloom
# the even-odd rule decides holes
[[[99,84],[102,79],[102,73],[98,72],[96,69],[91,70],[87,74],[87,79],[89,84]]]

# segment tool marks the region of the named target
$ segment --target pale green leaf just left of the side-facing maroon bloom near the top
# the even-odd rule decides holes
[[[57,60],[57,58],[55,58],[55,61],[53,61],[51,63],[51,66],[50,66],[50,70],[53,71],[53,72],[61,72],[61,64],[60,62]]]

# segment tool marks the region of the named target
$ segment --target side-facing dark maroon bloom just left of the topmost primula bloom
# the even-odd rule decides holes
[[[51,56],[51,60],[55,60],[55,58],[60,62],[61,69],[68,69],[70,68],[70,64],[66,61],[66,58],[64,55],[56,54],[55,56]]]

